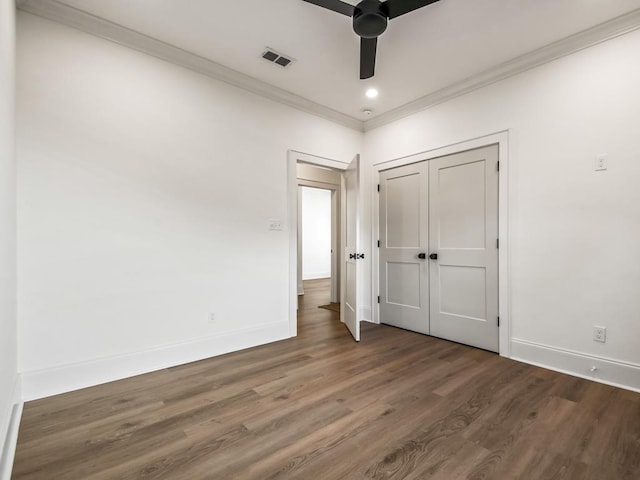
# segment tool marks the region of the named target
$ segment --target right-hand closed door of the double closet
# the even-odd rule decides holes
[[[429,161],[431,335],[498,351],[498,146]]]

